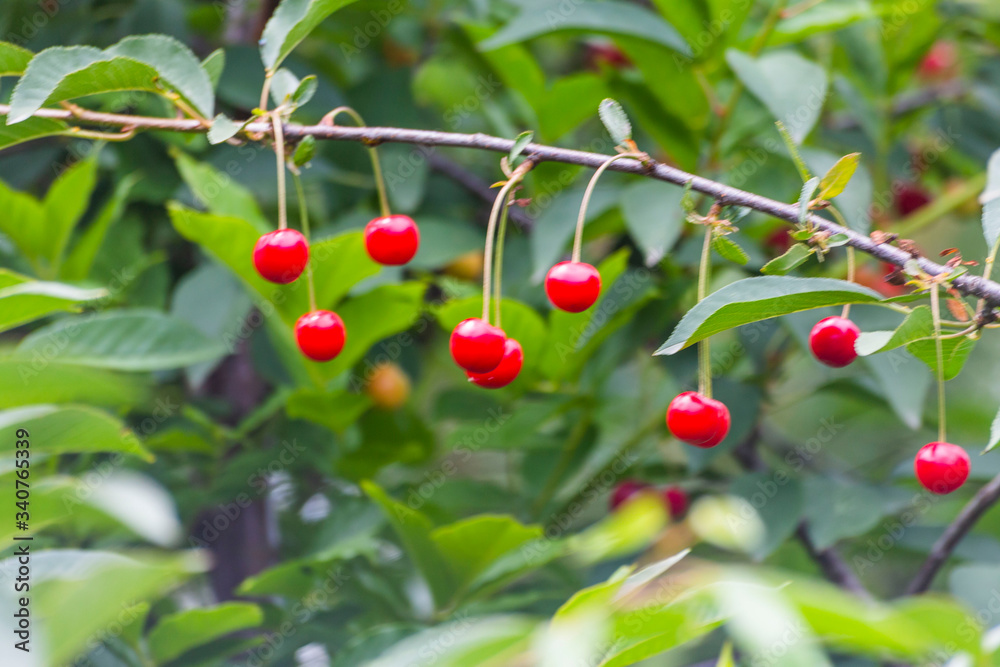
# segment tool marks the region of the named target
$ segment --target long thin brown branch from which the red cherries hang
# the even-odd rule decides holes
[[[0,105],[0,116],[7,115],[10,107]],[[118,127],[135,127],[136,129],[170,130],[174,132],[205,132],[202,122],[186,118],[152,118],[146,116],[131,116],[127,114],[100,113],[96,111],[69,111],[64,109],[39,109],[36,116],[75,121],[88,125],[111,125]],[[248,134],[268,135],[272,132],[271,124],[253,122],[246,126]],[[513,147],[511,139],[491,137],[486,134],[458,134],[454,132],[438,132],[432,130],[410,130],[396,127],[341,127],[327,125],[288,125],[285,136],[297,139],[305,136],[329,141],[359,141],[367,146],[377,146],[385,142],[415,144],[420,146],[452,146],[456,148],[476,148],[480,150],[508,153]],[[562,162],[596,169],[607,162],[608,156],[601,153],[588,153],[568,148],[529,144],[524,150],[524,156],[534,162]],[[637,174],[656,178],[674,185],[687,186],[708,195],[721,204],[745,206],[761,213],[766,213],[781,220],[798,222],[798,204],[787,204],[767,197],[746,192],[738,188],[723,185],[716,181],[689,174],[686,171],[666,164],[650,162],[647,165],[632,160],[615,162],[609,167],[612,171]],[[858,234],[846,227],[822,218],[818,215],[809,216],[813,226],[830,234],[843,234],[848,245],[857,248],[877,259],[904,266],[908,261],[915,260],[920,268],[930,275],[938,275],[950,271],[926,257],[913,257],[895,246],[887,243],[876,243],[871,238]],[[966,274],[959,276],[952,283],[956,289],[966,295],[985,299],[991,306],[1000,305],[1000,284],[984,280],[979,276]]]

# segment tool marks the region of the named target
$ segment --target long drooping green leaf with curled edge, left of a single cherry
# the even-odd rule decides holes
[[[761,276],[731,283],[689,310],[656,355],[675,354],[721,331],[801,310],[877,303],[867,287],[832,278]]]

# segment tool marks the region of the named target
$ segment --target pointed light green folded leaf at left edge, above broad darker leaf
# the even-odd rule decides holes
[[[31,280],[0,269],[0,331],[56,312],[72,312],[88,301],[103,299],[103,289],[82,289],[63,283]]]

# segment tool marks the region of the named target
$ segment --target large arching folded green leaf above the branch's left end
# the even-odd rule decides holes
[[[184,44],[166,35],[126,37],[104,51],[89,46],[45,49],[28,65],[11,96],[8,124],[46,104],[120,90],[177,91],[205,117],[215,93],[208,73]]]

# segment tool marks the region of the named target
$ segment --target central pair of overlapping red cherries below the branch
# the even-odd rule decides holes
[[[485,389],[499,389],[514,381],[524,364],[521,344],[500,327],[472,317],[451,332],[451,357],[469,381]]]

